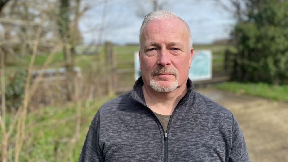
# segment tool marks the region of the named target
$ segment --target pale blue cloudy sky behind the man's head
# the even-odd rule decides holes
[[[225,1],[225,0],[224,0]],[[217,39],[229,38],[235,20],[213,0],[162,0],[164,10],[170,10],[187,22],[194,44],[210,44]],[[227,2],[228,4],[228,2]],[[103,14],[103,3],[89,3],[91,6],[80,20],[80,30],[85,44],[99,43],[99,28]],[[116,44],[138,44],[139,29],[144,17],[152,11],[149,0],[108,0],[102,42]]]

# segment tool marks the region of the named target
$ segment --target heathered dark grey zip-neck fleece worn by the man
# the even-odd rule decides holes
[[[89,128],[80,162],[164,161],[164,133],[146,107],[140,77],[127,94],[106,102]],[[250,161],[232,113],[195,92],[191,80],[167,130],[168,161]]]

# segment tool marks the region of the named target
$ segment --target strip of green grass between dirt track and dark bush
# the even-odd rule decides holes
[[[216,88],[234,93],[288,102],[288,85],[274,86],[267,83],[225,82],[218,84]]]

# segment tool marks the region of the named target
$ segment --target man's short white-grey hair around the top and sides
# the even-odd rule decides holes
[[[157,11],[153,11],[153,12],[150,12],[149,14],[147,14],[143,20],[143,23],[142,23],[141,28],[140,28],[140,33],[139,33],[140,50],[141,50],[141,38],[142,38],[144,28],[146,27],[147,23],[151,20],[164,20],[164,19],[169,19],[169,18],[177,18],[177,19],[181,20],[182,22],[184,22],[184,24],[187,26],[188,33],[189,33],[188,47],[193,48],[191,31],[190,31],[188,24],[182,18],[180,18],[179,16],[177,16],[176,14],[174,14],[171,11],[157,10]]]

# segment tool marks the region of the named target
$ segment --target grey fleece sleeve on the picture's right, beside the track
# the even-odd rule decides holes
[[[240,125],[233,115],[232,118],[232,148],[228,162],[250,162],[248,150],[246,148],[246,143]]]

